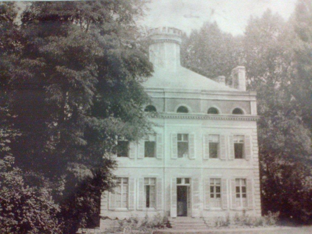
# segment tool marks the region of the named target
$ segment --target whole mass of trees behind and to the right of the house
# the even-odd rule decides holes
[[[312,220],[311,19],[312,2],[302,0],[288,22],[267,10],[251,17],[245,35],[232,40],[207,23],[191,33],[183,50],[186,66],[212,78],[229,78],[235,65],[246,67],[248,90],[257,91],[261,116],[262,210],[299,222]],[[223,67],[223,74],[216,67]]]

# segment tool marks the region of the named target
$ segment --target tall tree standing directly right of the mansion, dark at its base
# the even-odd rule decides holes
[[[293,101],[293,30],[266,11],[246,27],[244,54],[249,89],[257,91],[262,205],[282,218],[311,218],[311,133]],[[299,78],[302,79],[301,77]],[[299,87],[303,84],[297,83]]]

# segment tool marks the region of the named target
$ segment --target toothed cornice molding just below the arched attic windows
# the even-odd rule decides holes
[[[153,117],[152,117],[153,118]],[[204,114],[182,114],[182,113],[158,113],[154,118],[163,119],[217,119],[217,120],[243,120],[257,121],[257,115],[204,115]]]

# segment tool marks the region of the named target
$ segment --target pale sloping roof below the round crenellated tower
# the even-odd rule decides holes
[[[154,66],[154,73],[145,82],[144,88],[186,89],[213,91],[240,91],[199,75],[182,66],[164,68]]]

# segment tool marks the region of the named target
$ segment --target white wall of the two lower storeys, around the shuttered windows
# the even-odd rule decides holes
[[[231,204],[231,184],[233,178],[246,178],[252,181],[252,209],[246,209],[247,213],[254,216],[261,215],[260,207],[260,182],[258,165],[258,145],[256,121],[246,120],[216,120],[216,119],[154,119],[158,127],[155,132],[162,135],[163,157],[162,158],[138,158],[138,148],[135,158],[117,158],[118,169],[115,174],[119,177],[134,178],[134,194],[138,195],[138,180],[144,177],[162,178],[162,207],[158,210],[137,209],[137,198],[135,199],[134,210],[109,210],[107,196],[103,195],[101,202],[102,217],[126,218],[131,216],[144,217],[148,214],[150,217],[157,213],[169,215],[171,208],[170,181],[172,178],[186,177],[199,179],[200,196],[200,217],[218,217],[225,216],[227,213],[234,215],[241,212],[239,209],[232,209]],[[172,133],[194,134],[195,158],[176,158],[173,159],[171,149]],[[226,139],[226,158],[205,159],[203,154],[203,135],[220,134]],[[250,136],[252,154],[249,160],[229,159],[229,136],[232,134],[243,134]],[[135,146],[138,147],[138,146]],[[204,207],[204,179],[222,178],[227,183],[227,208],[226,209],[205,209]],[[224,181],[224,180],[223,180]]]

